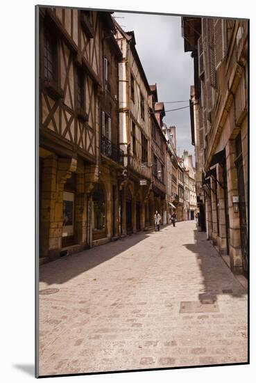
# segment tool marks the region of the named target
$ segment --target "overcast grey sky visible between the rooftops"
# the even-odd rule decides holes
[[[193,79],[193,59],[184,52],[181,36],[181,18],[178,16],[114,13],[124,31],[134,31],[136,49],[142,62],[148,84],[157,84],[158,101],[187,100],[177,104],[164,104],[165,110],[189,105]],[[176,126],[178,155],[191,145],[189,108],[167,112],[164,122]]]

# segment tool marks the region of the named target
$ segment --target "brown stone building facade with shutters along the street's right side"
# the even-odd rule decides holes
[[[248,20],[182,19],[194,57],[192,143],[207,236],[248,272]]]

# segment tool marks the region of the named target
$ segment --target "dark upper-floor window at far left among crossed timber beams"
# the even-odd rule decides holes
[[[44,77],[56,80],[56,42],[49,31],[44,31]]]

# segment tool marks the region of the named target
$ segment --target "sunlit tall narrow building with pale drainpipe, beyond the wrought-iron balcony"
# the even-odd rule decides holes
[[[119,143],[123,150],[121,234],[143,230],[149,221],[151,191],[151,118],[148,113],[150,88],[135,48],[135,35],[117,26],[117,42],[122,52],[119,63]]]

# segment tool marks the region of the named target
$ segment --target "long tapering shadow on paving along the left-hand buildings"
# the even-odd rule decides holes
[[[130,247],[133,247],[138,242],[148,238],[152,233],[155,233],[155,230],[135,233],[119,238],[117,241],[108,242],[103,246],[94,247],[72,254],[71,256],[58,258],[51,263],[40,265],[40,282],[45,282],[48,285],[65,283],[69,279],[73,279],[79,274],[130,249]]]

